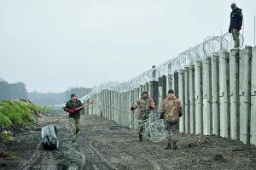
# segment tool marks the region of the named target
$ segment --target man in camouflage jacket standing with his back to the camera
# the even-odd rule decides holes
[[[167,150],[172,149],[171,144],[173,142],[173,150],[177,149],[177,133],[178,133],[178,121],[179,117],[183,116],[183,108],[181,102],[176,99],[173,90],[170,89],[166,96],[166,99],[160,105],[160,118],[163,118],[166,122],[167,136]]]

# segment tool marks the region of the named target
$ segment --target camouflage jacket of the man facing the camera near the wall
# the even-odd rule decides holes
[[[149,106],[153,106],[154,107],[154,101],[151,98],[147,98],[147,99],[138,99],[137,102],[133,105],[133,107],[135,109],[137,109],[137,107],[139,108],[139,113],[140,113],[140,117],[143,117],[145,114],[147,115],[148,113],[150,113],[149,110]]]

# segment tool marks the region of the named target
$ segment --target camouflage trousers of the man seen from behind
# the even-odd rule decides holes
[[[168,144],[177,142],[178,122],[166,122]]]

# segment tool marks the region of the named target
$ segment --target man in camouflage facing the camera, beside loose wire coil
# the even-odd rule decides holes
[[[154,110],[154,101],[148,96],[148,92],[143,92],[142,98],[138,99],[137,102],[131,107],[131,111],[139,108],[139,141],[143,141],[144,122],[148,119],[150,111]]]

